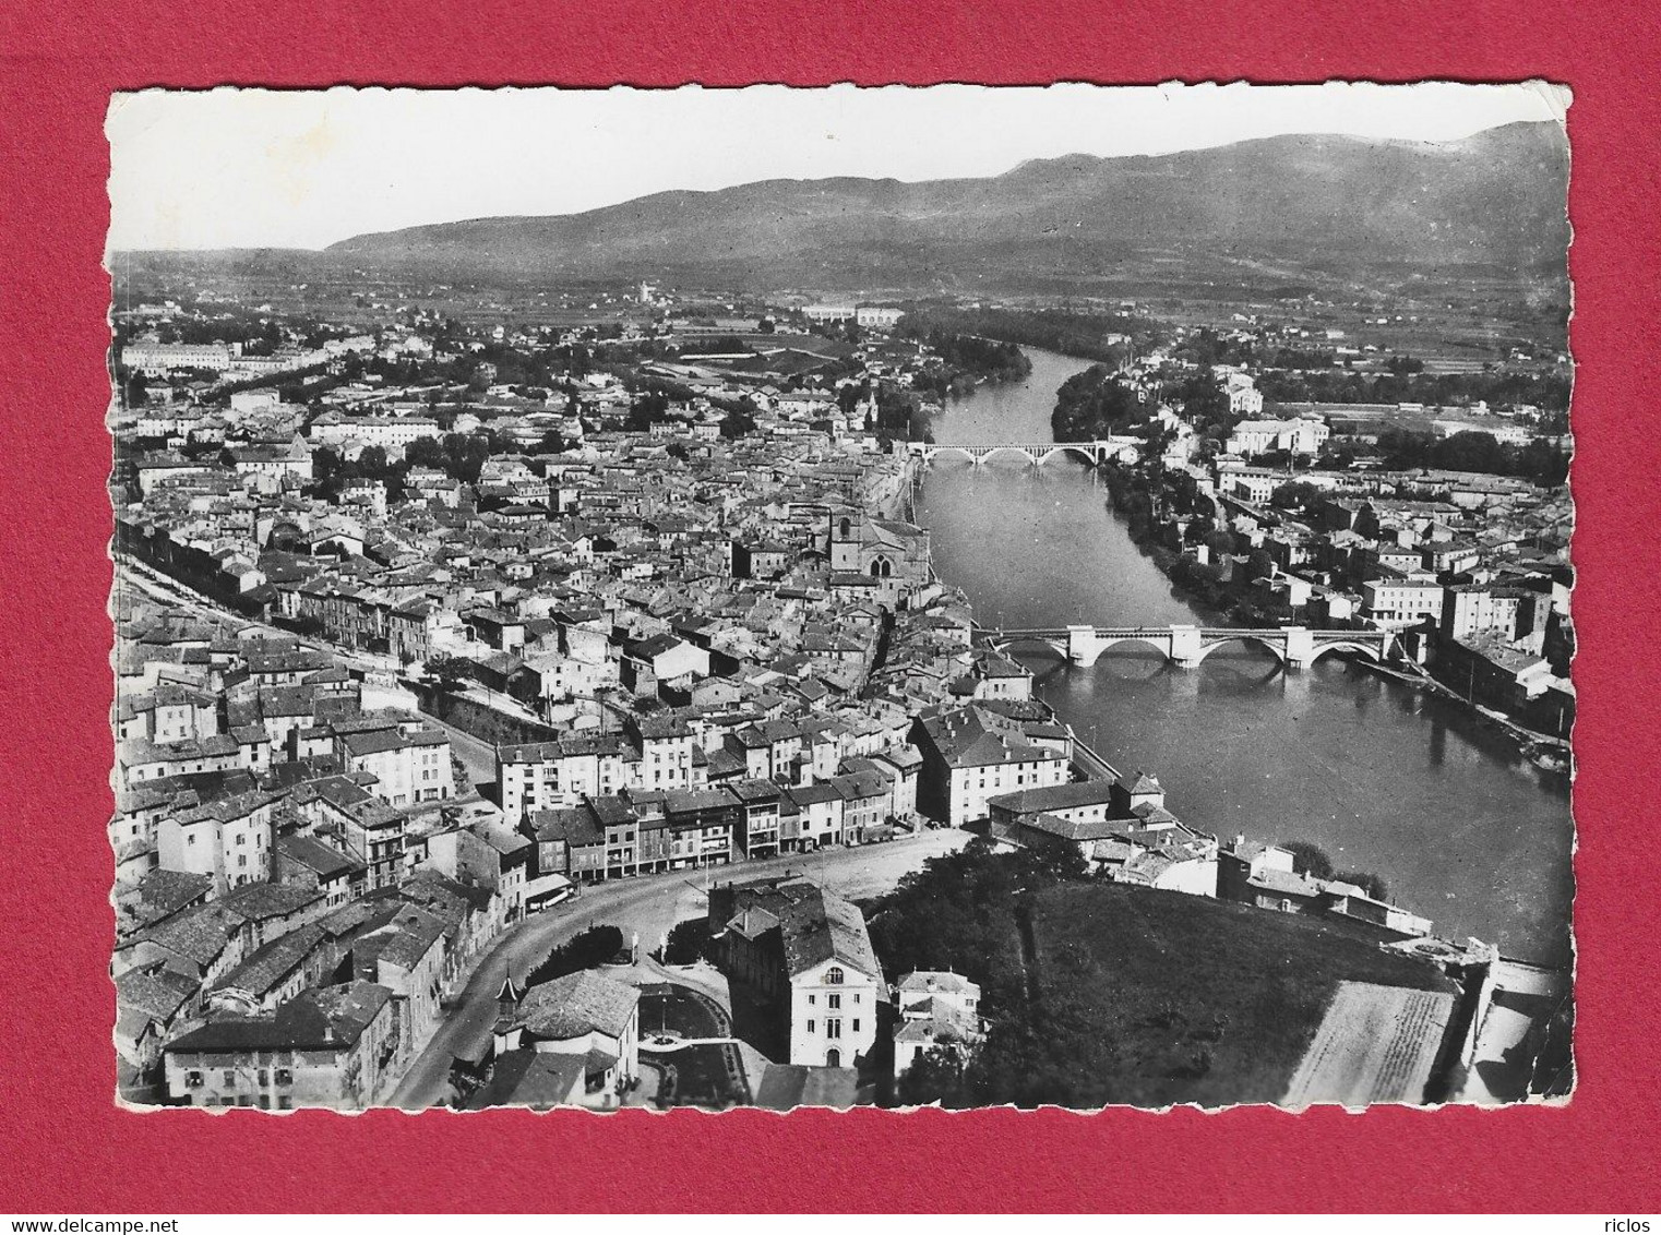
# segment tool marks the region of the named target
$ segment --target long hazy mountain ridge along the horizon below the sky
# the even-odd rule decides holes
[[[603,209],[354,236],[375,266],[751,286],[1076,279],[1231,264],[1465,266],[1561,277],[1568,146],[1555,124],[1445,144],[1281,136],[1163,156],[1068,156],[1003,176],[761,181]]]

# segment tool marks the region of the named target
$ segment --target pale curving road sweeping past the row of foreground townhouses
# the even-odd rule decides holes
[[[678,870],[641,875],[583,888],[575,898],[507,930],[473,971],[460,1006],[445,1014],[427,1047],[415,1057],[390,1106],[419,1111],[448,1096],[450,1059],[483,1042],[497,1021],[497,991],[512,968],[515,981],[538,966],[550,951],[590,926],[616,926],[625,938],[639,936],[639,946],[656,948],[669,928],[704,913],[704,878],[752,880],[786,870],[812,876],[817,883],[850,900],[892,890],[927,858],[950,853],[970,833],[953,828],[920,832],[880,845],[791,853],[782,858],[744,862],[708,871]]]

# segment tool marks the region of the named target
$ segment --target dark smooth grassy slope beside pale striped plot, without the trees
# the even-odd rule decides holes
[[[1453,989],[1339,923],[1121,885],[1041,891],[1028,951],[1046,1019],[1108,1044],[1086,1087],[1136,1106],[1277,1101],[1339,981]]]

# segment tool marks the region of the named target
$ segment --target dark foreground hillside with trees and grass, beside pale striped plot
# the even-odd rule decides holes
[[[980,983],[992,1019],[965,1074],[902,1089],[902,1102],[1279,1102],[1340,983],[1455,989],[1344,923],[1040,863],[970,847],[872,906],[890,979],[950,968]]]

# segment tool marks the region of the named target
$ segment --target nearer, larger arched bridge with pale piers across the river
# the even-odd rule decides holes
[[[1229,629],[1213,626],[1056,626],[1031,631],[982,631],[992,647],[1041,642],[1078,666],[1095,664],[1121,642],[1138,642],[1163,652],[1183,669],[1198,669],[1227,644],[1267,647],[1289,669],[1307,669],[1327,652],[1357,652],[1374,662],[1395,649],[1394,631],[1311,631],[1307,626]]]

